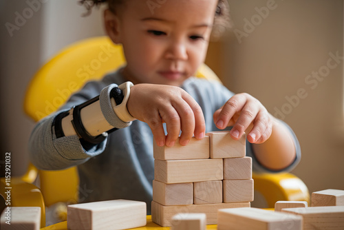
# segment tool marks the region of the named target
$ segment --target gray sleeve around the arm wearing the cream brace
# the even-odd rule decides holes
[[[54,119],[62,112],[68,111],[74,105],[80,105],[100,94],[108,85],[104,81],[87,83],[83,90],[69,98],[61,110],[43,118],[36,124],[29,139],[30,161],[39,169],[65,169],[85,163],[89,158],[101,154],[107,143],[107,138],[98,145],[82,144],[78,136],[56,138],[54,134]]]

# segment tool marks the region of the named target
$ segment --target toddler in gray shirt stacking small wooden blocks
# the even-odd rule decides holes
[[[220,83],[193,77],[204,62],[212,30],[226,17],[224,0],[89,2],[83,1],[89,7],[108,4],[105,29],[114,43],[122,44],[127,64],[87,83],[36,125],[29,143],[36,167],[78,166],[80,187],[92,191],[83,202],[142,200],[150,213],[153,138],[160,146],[171,147],[176,141],[187,145],[192,136],[202,139],[206,132],[232,127],[231,138],[246,132],[246,155],[252,157],[255,171],[288,171],[297,165],[301,150],[288,125],[249,94],[233,94]],[[122,89],[115,104],[127,115],[120,116],[116,109],[105,112],[103,107],[116,99],[112,89],[127,81],[133,86],[127,84],[130,90]],[[72,116],[74,106],[99,94],[100,114],[115,129],[93,141],[71,121],[83,119]]]

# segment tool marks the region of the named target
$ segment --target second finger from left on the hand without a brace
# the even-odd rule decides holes
[[[233,128],[230,130],[230,135],[235,139],[241,138],[252,121],[255,121],[258,112],[259,107],[257,107],[255,103],[248,101],[248,103],[246,103],[246,105],[241,109],[239,118],[237,118]]]

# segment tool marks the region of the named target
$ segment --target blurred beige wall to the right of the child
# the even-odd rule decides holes
[[[224,82],[294,129],[302,160],[292,173],[310,191],[344,189],[343,1],[229,3]]]

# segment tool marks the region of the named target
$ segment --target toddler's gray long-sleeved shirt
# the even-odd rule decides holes
[[[81,145],[78,136],[56,138],[54,134],[54,118],[59,113],[98,96],[100,91],[111,83],[120,85],[125,81],[120,71],[108,74],[101,81],[91,81],[72,95],[58,112],[39,121],[30,136],[30,160],[43,170],[77,166],[80,188],[83,189],[79,194],[80,202],[119,198],[141,200],[147,202],[147,213],[151,213],[154,179],[153,135],[146,123],[133,121],[129,127],[109,134],[99,145]],[[234,95],[233,92],[221,83],[194,77],[184,81],[182,88],[202,107],[206,132],[217,131],[213,113]],[[288,125],[286,127],[290,129]],[[291,170],[301,159],[299,142],[292,129],[290,132],[294,137],[297,158],[283,171]],[[248,142],[246,156],[252,157],[254,171],[271,172],[259,164]]]

